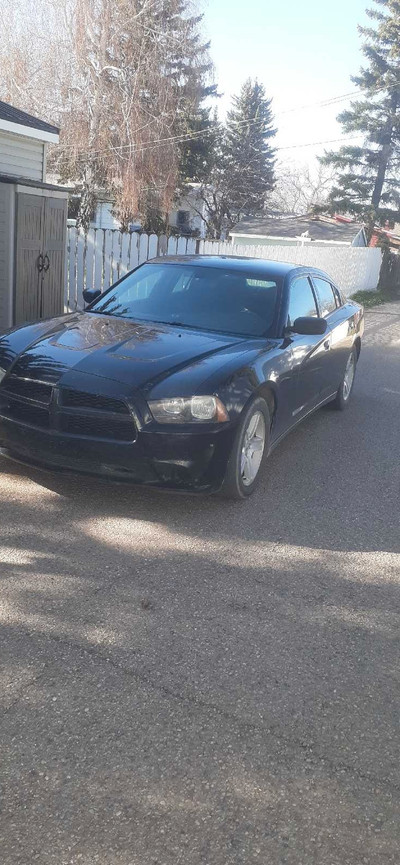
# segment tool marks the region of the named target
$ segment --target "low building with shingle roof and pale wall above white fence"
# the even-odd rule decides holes
[[[339,215],[249,217],[230,236],[237,246],[368,246],[363,225]]]

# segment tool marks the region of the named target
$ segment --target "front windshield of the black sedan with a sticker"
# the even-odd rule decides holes
[[[229,267],[145,264],[128,274],[91,312],[179,327],[269,336],[278,283]]]

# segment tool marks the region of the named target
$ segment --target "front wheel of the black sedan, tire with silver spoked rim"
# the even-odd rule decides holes
[[[268,456],[271,418],[267,403],[255,397],[243,409],[221,495],[246,499],[256,488]]]

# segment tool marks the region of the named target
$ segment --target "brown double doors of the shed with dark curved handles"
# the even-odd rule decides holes
[[[64,311],[67,201],[18,193],[14,322]]]

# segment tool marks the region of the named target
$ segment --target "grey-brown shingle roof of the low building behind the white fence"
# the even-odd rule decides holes
[[[351,243],[363,226],[356,222],[339,222],[328,217],[261,216],[243,219],[231,234],[254,234],[263,237],[300,237],[308,232],[312,240],[337,240]]]

